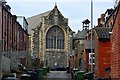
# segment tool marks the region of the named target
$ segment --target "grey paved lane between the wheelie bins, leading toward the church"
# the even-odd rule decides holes
[[[72,80],[70,73],[66,71],[50,71],[50,73],[45,76],[45,80]]]

